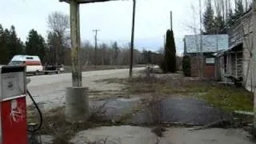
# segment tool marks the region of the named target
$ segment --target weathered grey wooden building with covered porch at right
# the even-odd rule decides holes
[[[216,56],[215,78],[222,82],[241,80],[242,86],[252,90],[252,12],[248,11],[230,27],[229,49]]]

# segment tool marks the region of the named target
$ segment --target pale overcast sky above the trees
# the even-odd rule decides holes
[[[18,37],[26,41],[29,30],[47,35],[48,14],[60,11],[69,14],[69,5],[58,0],[0,0],[0,24],[5,28],[14,25]],[[178,53],[182,53],[182,38],[192,34],[194,25],[191,5],[195,0],[137,0],[135,46],[142,50],[158,50],[163,45],[163,35],[170,28],[170,10],[173,11],[174,36]],[[198,10],[197,8],[195,10]],[[196,11],[198,13],[198,11]],[[130,42],[132,1],[103,2],[80,7],[82,41],[94,42],[93,29],[99,42],[117,41],[120,45]],[[196,19],[198,23],[198,18]],[[196,25],[198,26],[198,25]]]

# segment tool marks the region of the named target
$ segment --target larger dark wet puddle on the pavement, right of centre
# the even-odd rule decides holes
[[[130,122],[150,124],[152,122],[178,123],[186,125],[206,125],[210,122],[228,118],[221,110],[194,98],[165,98],[134,114]]]

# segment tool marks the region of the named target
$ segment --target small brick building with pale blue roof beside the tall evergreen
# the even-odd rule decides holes
[[[199,77],[199,75],[202,73],[203,78],[214,79],[216,57],[215,54],[220,50],[228,49],[228,35],[202,35],[202,50],[200,50],[200,41],[200,35],[186,35],[184,38],[184,55],[190,57],[190,74],[192,77]],[[203,55],[203,57],[201,56],[201,54]]]

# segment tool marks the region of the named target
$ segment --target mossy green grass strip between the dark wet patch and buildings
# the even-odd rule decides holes
[[[108,83],[125,85],[128,94],[154,93],[162,95],[179,94],[185,97],[202,99],[222,110],[253,110],[253,94],[235,86],[224,86],[217,82],[186,81],[165,78],[111,78],[102,80]]]

